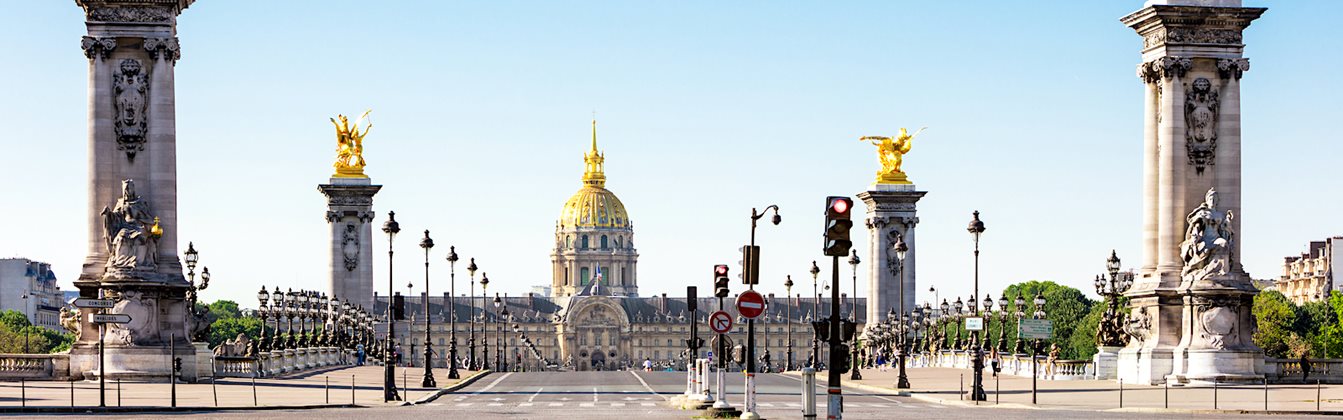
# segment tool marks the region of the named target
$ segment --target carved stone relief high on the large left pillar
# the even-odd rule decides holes
[[[145,149],[145,132],[149,106],[149,74],[140,60],[124,59],[113,78],[113,110],[115,111],[117,149],[126,152],[126,158],[136,160],[136,153]]]

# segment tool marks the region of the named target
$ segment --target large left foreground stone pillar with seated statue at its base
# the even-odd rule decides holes
[[[167,380],[176,346],[183,377],[195,378],[177,256],[177,150],[173,66],[177,15],[195,0],[77,0],[89,34],[89,242],[75,287],[115,301],[107,365],[97,358],[89,311],[70,352],[73,376]]]

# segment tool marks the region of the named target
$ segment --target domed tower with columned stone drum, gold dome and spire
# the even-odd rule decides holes
[[[583,188],[564,203],[555,223],[551,294],[572,297],[595,288],[604,295],[638,297],[634,223],[620,199],[606,189],[606,156],[596,148],[595,119],[592,148],[583,164]]]

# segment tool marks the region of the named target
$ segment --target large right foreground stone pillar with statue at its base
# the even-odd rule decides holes
[[[1148,0],[1121,21],[1143,36],[1143,266],[1129,298],[1127,382],[1254,381],[1262,353],[1250,339],[1254,287],[1240,255],[1240,76],[1242,32],[1264,8],[1241,0]],[[1214,191],[1219,203],[1209,205]],[[1223,217],[1225,264],[1191,252],[1207,229],[1195,209]],[[1215,211],[1215,212],[1214,212]],[[1217,213],[1222,215],[1222,213]],[[1201,221],[1202,223],[1202,221]],[[1197,231],[1197,232],[1195,232]]]

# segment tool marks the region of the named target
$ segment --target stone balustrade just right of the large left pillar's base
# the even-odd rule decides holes
[[[304,348],[263,352],[257,357],[215,357],[216,377],[275,377],[305,370],[353,364],[349,350]]]

